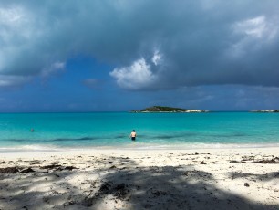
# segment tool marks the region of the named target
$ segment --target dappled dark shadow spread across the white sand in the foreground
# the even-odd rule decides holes
[[[100,162],[104,167],[94,168]],[[121,157],[88,164],[85,171],[39,172],[34,166],[28,174],[0,173],[1,179],[17,179],[0,182],[0,209],[279,209],[223,191],[211,173],[191,165],[143,167]],[[81,180],[74,183],[75,177]],[[41,186],[49,187],[47,193]]]

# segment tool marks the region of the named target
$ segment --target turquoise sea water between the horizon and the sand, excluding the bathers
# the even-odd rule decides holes
[[[136,142],[129,140],[133,129],[138,133]],[[0,152],[90,147],[180,149],[278,145],[278,113],[0,114]]]

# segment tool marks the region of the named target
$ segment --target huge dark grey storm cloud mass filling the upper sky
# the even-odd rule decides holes
[[[278,9],[276,0],[3,0],[0,86],[82,54],[115,66],[124,89],[278,87]]]

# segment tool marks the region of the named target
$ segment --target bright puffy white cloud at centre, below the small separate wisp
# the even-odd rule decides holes
[[[125,89],[144,89],[156,79],[144,58],[136,60],[129,67],[115,68],[109,74]]]

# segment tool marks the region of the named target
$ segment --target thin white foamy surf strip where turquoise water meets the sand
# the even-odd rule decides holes
[[[279,143],[176,143],[176,144],[152,144],[132,142],[126,145],[111,146],[70,146],[59,147],[55,145],[24,145],[17,147],[0,147],[0,154],[5,153],[42,153],[42,152],[87,152],[87,151],[191,151],[191,150],[250,150],[250,149],[279,148]]]

